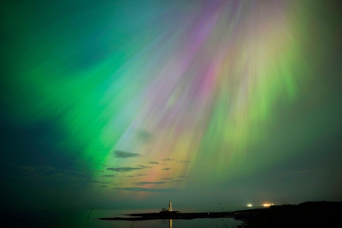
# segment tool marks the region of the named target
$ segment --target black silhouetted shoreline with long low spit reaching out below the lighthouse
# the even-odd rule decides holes
[[[274,205],[268,208],[232,212],[125,214],[130,217],[99,218],[102,220],[151,220],[224,218],[241,220],[240,227],[342,227],[342,202],[306,202],[299,205]]]

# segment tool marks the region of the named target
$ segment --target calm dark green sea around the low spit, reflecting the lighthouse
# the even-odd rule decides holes
[[[222,212],[237,211],[260,207],[226,207],[226,208],[183,208],[179,212]],[[195,218],[195,219],[156,219],[142,221],[100,220],[102,217],[125,217],[125,214],[154,213],[160,209],[129,210],[48,210],[0,212],[2,227],[103,227],[103,228],[234,228],[242,221],[233,218]]]

